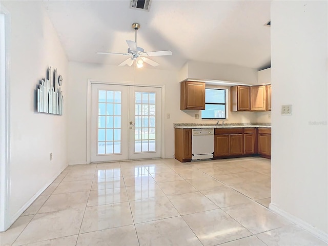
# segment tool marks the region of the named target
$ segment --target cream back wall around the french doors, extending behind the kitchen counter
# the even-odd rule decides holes
[[[255,77],[257,77],[255,71]],[[107,81],[109,83],[134,83],[133,67],[118,67],[99,64],[69,62],[68,85],[68,162],[70,165],[87,163],[87,80]],[[229,77],[227,77],[229,78]],[[216,120],[195,119],[197,110],[180,110],[180,84],[177,71],[141,69],[136,70],[137,84],[165,85],[165,158],[174,156],[174,123],[214,123]],[[229,112],[227,122],[257,122],[255,112]]]

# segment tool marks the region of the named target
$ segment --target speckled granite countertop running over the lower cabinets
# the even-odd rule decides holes
[[[227,123],[222,126],[216,124],[197,124],[197,123],[174,123],[174,128],[192,129],[192,128],[271,128],[271,123]]]

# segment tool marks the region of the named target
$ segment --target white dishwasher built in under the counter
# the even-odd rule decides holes
[[[214,128],[193,129],[191,160],[212,159],[214,152]]]

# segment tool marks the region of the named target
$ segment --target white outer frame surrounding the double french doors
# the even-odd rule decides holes
[[[98,79],[88,79],[87,80],[87,146],[86,146],[86,163],[91,163],[91,85],[92,84],[105,84],[105,85],[119,85],[119,86],[139,86],[139,87],[157,87],[161,88],[161,150],[160,158],[165,156],[165,85],[144,85],[144,84],[135,84],[133,82],[109,82],[101,81]]]

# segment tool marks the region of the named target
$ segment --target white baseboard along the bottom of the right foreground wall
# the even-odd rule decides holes
[[[270,203],[269,205],[269,209],[271,211],[273,211],[274,213],[284,217],[285,219],[291,221],[292,223],[297,224],[297,226],[303,228],[304,230],[312,233],[314,236],[316,236],[317,238],[320,238],[321,240],[323,240],[324,242],[328,243],[328,234],[324,233],[318,229],[316,229],[315,227],[311,226],[311,224],[301,220],[300,218],[297,218],[296,216],[282,210],[279,209],[276,204],[274,203]]]

